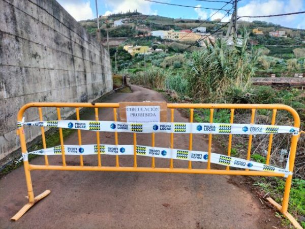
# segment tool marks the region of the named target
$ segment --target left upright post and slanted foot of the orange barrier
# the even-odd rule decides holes
[[[20,136],[20,142],[21,142],[21,150],[23,155],[23,165],[24,165],[24,173],[25,173],[25,180],[26,180],[26,186],[27,186],[27,196],[28,196],[28,203],[24,205],[12,218],[11,220],[18,220],[23,216],[28,209],[30,209],[33,205],[35,205],[38,201],[40,201],[43,197],[50,194],[50,190],[46,190],[40,195],[34,197],[33,192],[33,186],[32,186],[32,179],[31,179],[31,173],[29,171],[28,166],[28,160],[27,160],[27,152],[26,152],[26,144],[25,144],[25,137],[24,137],[24,131],[23,127],[20,128],[19,136]]]

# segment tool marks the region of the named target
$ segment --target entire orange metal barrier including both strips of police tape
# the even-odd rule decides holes
[[[142,105],[145,105],[143,103]],[[24,122],[24,112],[31,107],[38,108],[40,120],[37,122]],[[54,107],[57,111],[56,121],[43,120],[43,107]],[[61,120],[60,108],[69,107],[75,108],[76,120]],[[95,110],[94,121],[80,121],[80,108],[93,108]],[[113,109],[113,121],[99,121],[99,108]],[[28,191],[28,204],[26,204],[12,220],[18,220],[29,208],[36,202],[50,193],[46,190],[38,196],[34,196],[31,170],[78,170],[78,171],[137,171],[137,172],[155,172],[155,173],[187,173],[187,174],[215,174],[215,175],[245,175],[245,176],[274,176],[285,177],[285,192],[283,196],[282,205],[279,205],[273,199],[268,198],[268,201],[274,205],[282,214],[284,214],[294,226],[301,228],[298,222],[287,212],[289,193],[292,182],[292,172],[294,167],[294,160],[296,154],[297,141],[299,137],[300,120],[297,112],[286,105],[280,104],[167,104],[165,112],[170,111],[170,122],[156,122],[156,123],[126,123],[117,121],[117,109],[120,108],[119,103],[28,103],[24,105],[18,112],[18,130],[17,134],[20,136],[21,151],[24,161],[25,179]],[[188,109],[190,112],[189,123],[175,123],[174,110]],[[208,109],[209,123],[194,123],[194,109]],[[33,108],[32,108],[33,109]],[[215,109],[230,110],[230,123],[213,123]],[[236,109],[251,110],[250,124],[234,124],[234,112]],[[270,125],[256,125],[255,113],[259,109],[267,109],[272,111],[272,119]],[[278,110],[285,110],[290,113],[294,119],[293,127],[290,126],[276,126],[276,116]],[[163,110],[164,111],[164,110]],[[121,109],[120,109],[121,112]],[[42,133],[42,150],[27,152],[26,138],[24,133],[24,126],[31,126],[33,128],[41,128]],[[47,148],[45,139],[44,127],[55,127],[59,129],[60,146]],[[77,129],[78,145],[68,146],[64,145],[63,128]],[[82,145],[81,130],[96,131],[96,145]],[[100,142],[100,132],[113,132],[115,145],[103,145]],[[133,145],[118,145],[118,132],[130,132],[133,134]],[[170,148],[155,147],[155,134],[158,133],[170,134]],[[137,134],[151,133],[152,145],[139,146],[137,145]],[[288,133],[291,134],[290,153],[287,159],[286,168],[279,168],[269,165],[270,155],[272,149],[272,139],[274,134]],[[189,135],[189,149],[180,150],[174,149],[174,134],[188,134]],[[208,134],[208,150],[207,152],[193,151],[193,135],[194,134]],[[212,153],[212,135],[213,134],[227,134],[228,150],[226,155]],[[231,157],[232,135],[234,134],[248,134],[249,142],[247,149],[247,159]],[[266,155],[266,163],[258,163],[251,161],[251,147],[252,138],[254,134],[269,134],[269,144]],[[44,155],[45,164],[29,164],[28,155]],[[115,156],[115,166],[105,166],[102,164],[103,154]],[[50,165],[48,156],[61,155],[62,165]],[[66,155],[79,155],[79,165],[67,165]],[[86,155],[96,155],[97,166],[87,166],[83,163],[83,157]],[[125,167],[119,165],[120,155],[133,155],[133,166]],[[137,165],[138,156],[151,157],[151,166],[139,167]],[[164,158],[169,160],[169,167],[158,167],[155,163],[155,158]],[[185,168],[175,167],[174,160],[187,160],[188,166]],[[206,162],[206,168],[193,168],[193,161]],[[212,169],[211,163],[225,165],[224,169]],[[232,167],[240,169],[231,169]]]

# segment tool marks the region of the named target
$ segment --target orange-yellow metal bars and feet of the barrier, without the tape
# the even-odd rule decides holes
[[[94,108],[95,109],[95,118],[96,121],[99,120],[98,112],[99,108],[113,108],[113,117],[114,121],[117,121],[117,108],[119,107],[119,103],[28,103],[21,107],[18,112],[17,121],[22,122],[22,117],[24,111],[30,107],[37,107],[39,112],[40,121],[43,121],[42,115],[42,107],[56,107],[57,110],[57,118],[61,119],[60,116],[60,108],[61,107],[73,107],[76,110],[76,118],[79,120],[79,108]],[[177,108],[186,108],[190,109],[190,122],[193,122],[194,109],[209,109],[210,110],[210,123],[213,122],[214,109],[229,109],[231,111],[230,115],[230,123],[233,123],[234,120],[234,111],[236,109],[251,109],[251,124],[255,121],[255,113],[258,109],[270,109],[272,110],[272,120],[271,125],[275,125],[276,114],[278,110],[286,110],[288,111],[294,119],[294,127],[299,128],[300,119],[298,113],[291,107],[281,104],[167,104],[167,108],[170,109],[171,114],[171,122],[174,122],[174,110]],[[44,127],[41,127],[42,132],[42,142],[43,148],[46,149],[46,139],[44,133]],[[25,155],[27,153],[26,149],[26,141],[24,135],[23,126],[18,129],[18,134],[20,136],[21,143],[21,151],[22,154]],[[96,132],[97,135],[97,146],[100,146],[100,134]],[[215,175],[246,175],[246,176],[274,176],[274,177],[284,177],[284,174],[280,173],[270,173],[267,171],[254,171],[254,170],[230,170],[229,166],[225,169],[211,169],[210,167],[210,155],[211,155],[211,146],[212,146],[212,134],[208,134],[208,161],[206,169],[198,169],[192,168],[192,161],[189,161],[187,168],[175,168],[173,159],[170,159],[170,164],[168,168],[164,167],[156,167],[155,158],[152,158],[151,167],[138,167],[137,166],[137,154],[136,154],[136,144],[137,144],[137,134],[133,133],[133,145],[134,145],[134,166],[133,167],[123,167],[119,165],[119,157],[116,155],[116,163],[115,166],[103,166],[101,161],[101,152],[100,147],[98,147],[98,166],[84,166],[83,164],[83,156],[80,155],[80,165],[79,166],[70,166],[66,164],[66,156],[64,150],[64,138],[62,128],[59,128],[59,137],[60,137],[60,145],[62,146],[62,165],[49,165],[48,156],[45,157],[45,165],[34,165],[29,164],[28,161],[24,161],[24,171],[25,171],[25,179],[27,185],[28,192],[28,204],[26,204],[16,215],[12,217],[12,220],[18,220],[25,212],[31,208],[36,202],[38,202],[43,197],[47,196],[50,193],[50,190],[44,191],[42,194],[38,196],[34,196],[32,181],[31,181],[31,170],[73,170],[73,171],[136,171],[136,172],[153,172],[153,173],[186,173],[186,174],[215,174]],[[289,157],[289,171],[293,171],[294,160],[296,154],[296,147],[298,141],[298,135],[292,135],[291,137],[291,148],[290,148],[290,157]],[[114,133],[115,145],[118,145],[118,134]],[[151,134],[152,138],[152,146],[155,146],[155,133]],[[266,164],[269,164],[270,154],[271,154],[271,145],[272,145],[273,134],[269,136],[269,145],[267,150],[267,158]],[[78,140],[79,145],[81,142],[81,131],[78,130]],[[189,150],[192,150],[192,141],[193,134],[189,134]],[[171,133],[170,136],[170,148],[173,149],[174,145],[174,134]],[[228,153],[227,155],[231,155],[231,145],[232,145],[232,134],[229,134],[229,142],[228,142]],[[251,146],[252,146],[252,135],[249,136],[248,143],[248,153],[247,159],[250,159],[251,156]],[[292,175],[289,175],[286,178],[285,184],[285,192],[283,196],[282,205],[279,205],[273,199],[267,198],[268,201],[275,206],[283,215],[285,215],[295,227],[301,228],[298,222],[288,213],[288,201],[289,201],[289,193],[292,182]]]

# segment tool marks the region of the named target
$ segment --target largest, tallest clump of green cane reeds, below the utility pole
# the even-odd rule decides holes
[[[206,42],[206,48],[186,54],[186,59],[190,60],[186,77],[193,98],[215,102],[230,96],[232,101],[248,101],[257,58],[247,49],[247,42],[247,33],[243,34],[241,45],[228,46],[225,40],[218,38],[215,43]],[[227,91],[231,88],[234,91]]]

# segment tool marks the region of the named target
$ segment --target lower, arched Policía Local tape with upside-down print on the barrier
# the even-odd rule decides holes
[[[97,155],[98,145],[65,145],[65,155]],[[190,160],[207,162],[208,153],[202,151],[189,151],[189,150],[177,150],[160,147],[148,147],[148,146],[136,146],[136,154],[146,157],[158,157],[158,158],[172,158],[178,160]],[[27,153],[36,155],[61,155],[63,153],[61,146],[56,146],[48,149],[37,150]],[[100,153],[106,155],[134,155],[133,145],[100,145]],[[27,158],[27,157],[26,157]],[[258,163],[255,161],[240,159],[236,157],[229,157],[217,153],[211,153],[211,163],[231,166],[236,168],[248,168],[257,171],[268,171],[273,173],[285,174],[285,176],[292,173],[286,169],[279,167]]]

